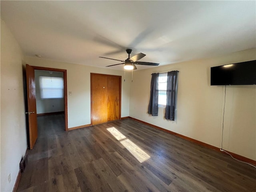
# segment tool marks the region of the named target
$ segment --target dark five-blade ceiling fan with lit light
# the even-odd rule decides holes
[[[136,65],[151,65],[151,66],[158,66],[159,65],[159,63],[150,63],[150,62],[138,61],[138,60],[142,59],[144,56],[146,56],[143,53],[138,53],[138,54],[136,54],[136,55],[134,55],[130,58],[130,54],[131,54],[132,50],[131,49],[126,49],[126,52],[128,53],[128,58],[125,61],[118,60],[118,59],[112,59],[112,58],[106,58],[106,57],[100,57],[100,58],[121,61],[123,63],[109,65],[109,66],[106,66],[106,67],[124,64],[124,69],[126,69],[126,70],[132,70],[132,69],[136,70],[137,68],[136,68],[135,64]]]

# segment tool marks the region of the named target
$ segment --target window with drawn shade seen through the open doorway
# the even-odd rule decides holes
[[[39,77],[41,99],[63,98],[64,81],[62,77]]]

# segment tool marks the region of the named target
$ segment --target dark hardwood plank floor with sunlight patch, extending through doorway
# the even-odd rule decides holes
[[[38,116],[18,191],[256,192],[256,168],[132,119],[64,131]]]

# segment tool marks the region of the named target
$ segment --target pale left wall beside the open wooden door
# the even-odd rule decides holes
[[[2,192],[12,191],[20,160],[27,148],[22,60],[20,46],[1,20],[0,191]],[[8,183],[9,173],[10,183]]]

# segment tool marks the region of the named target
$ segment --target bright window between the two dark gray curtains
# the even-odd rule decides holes
[[[167,73],[159,74],[158,77],[158,107],[166,106]]]

